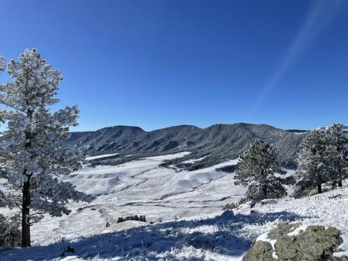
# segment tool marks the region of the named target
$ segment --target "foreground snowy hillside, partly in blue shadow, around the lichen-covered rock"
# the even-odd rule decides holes
[[[216,212],[178,221],[157,223],[135,228],[116,225],[115,231],[81,238],[78,242],[63,242],[31,249],[4,251],[0,260],[242,260],[242,255],[259,235],[280,221],[301,221],[305,225],[337,226],[346,232],[348,189],[340,189],[342,198],[330,198],[324,193],[297,200],[282,199],[271,205],[256,205],[255,209]],[[124,226],[128,230],[119,230]],[[76,237],[71,237],[76,239]],[[63,249],[75,253],[61,258]],[[346,245],[342,245],[346,247]],[[68,254],[69,255],[69,254]],[[147,259],[145,259],[147,258]]]

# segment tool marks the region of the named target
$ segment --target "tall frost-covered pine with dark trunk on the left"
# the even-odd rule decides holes
[[[10,207],[22,212],[22,246],[30,246],[30,227],[44,213],[69,214],[68,200],[90,200],[72,184],[58,177],[76,171],[83,156],[59,146],[68,139],[69,127],[77,125],[77,106],[51,113],[49,106],[59,102],[54,96],[61,73],[47,64],[35,49],[26,49],[18,61],[6,65],[13,82],[0,85],[0,119],[7,123],[0,149],[3,176],[11,191],[6,195]]]

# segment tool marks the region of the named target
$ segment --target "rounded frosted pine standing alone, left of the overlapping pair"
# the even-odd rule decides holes
[[[277,160],[276,150],[268,141],[257,140],[241,156],[235,173],[235,184],[248,187],[246,198],[260,201],[286,195],[282,179],[285,174]]]

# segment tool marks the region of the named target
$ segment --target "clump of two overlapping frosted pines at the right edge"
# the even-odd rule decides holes
[[[334,124],[325,131],[315,129],[301,143],[297,159],[299,167],[296,178],[295,197],[308,194],[311,190],[322,193],[322,184],[331,183],[342,187],[348,177],[347,138],[343,125]]]

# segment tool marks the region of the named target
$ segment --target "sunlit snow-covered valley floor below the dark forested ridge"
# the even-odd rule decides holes
[[[33,244],[50,244],[72,233],[100,234],[107,222],[116,223],[120,216],[145,215],[150,222],[212,213],[244,194],[244,188],[233,185],[233,174],[215,171],[235,161],[192,172],[159,167],[164,159],[187,154],[149,157],[121,166],[85,166],[68,175],[66,181],[97,198],[91,203],[71,203],[69,216],[45,216],[33,226]]]

